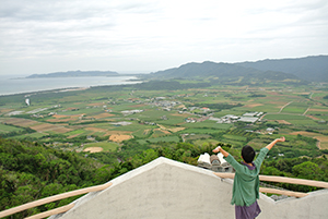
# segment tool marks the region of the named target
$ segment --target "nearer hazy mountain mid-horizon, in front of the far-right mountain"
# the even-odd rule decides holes
[[[237,64],[230,63],[215,63],[215,62],[202,62],[202,63],[187,63],[179,68],[168,69],[144,75],[150,80],[169,80],[169,78],[208,78],[211,82],[220,83],[266,83],[266,82],[281,82],[281,81],[294,81],[300,83],[301,81],[293,74],[262,71],[253,68],[245,68]]]

